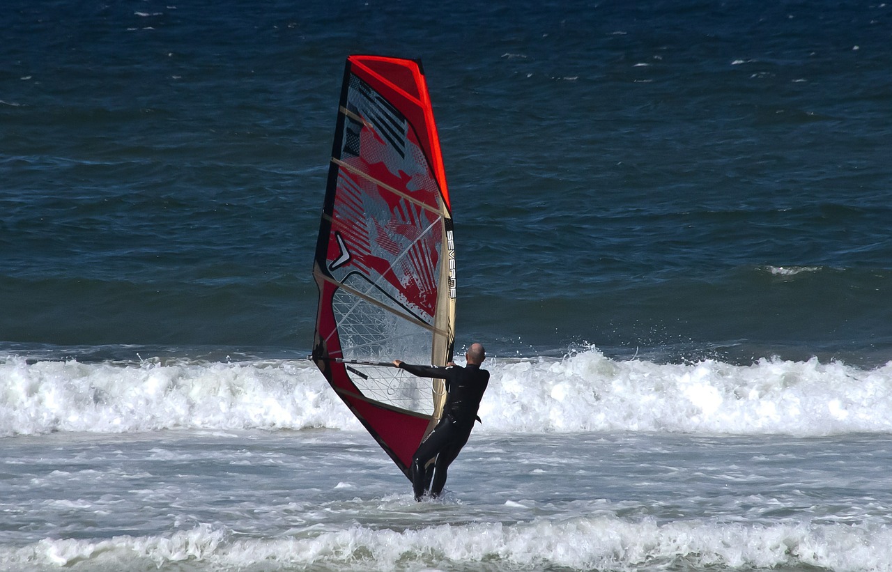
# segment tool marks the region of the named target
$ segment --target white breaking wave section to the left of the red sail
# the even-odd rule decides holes
[[[309,362],[0,360],[0,435],[178,427],[360,428]]]

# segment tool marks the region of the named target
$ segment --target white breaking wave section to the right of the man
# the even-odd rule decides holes
[[[657,365],[591,350],[494,370],[485,423],[510,431],[826,435],[892,430],[892,362]]]

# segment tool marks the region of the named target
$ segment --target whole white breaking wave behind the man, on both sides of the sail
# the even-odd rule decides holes
[[[482,431],[892,432],[892,362],[657,364],[596,349],[488,362]],[[0,358],[0,435],[361,427],[309,361],[141,365]]]

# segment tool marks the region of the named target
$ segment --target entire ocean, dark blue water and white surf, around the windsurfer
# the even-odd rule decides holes
[[[0,569],[892,570],[892,4],[0,12]],[[490,356],[434,502],[306,360],[355,53]]]

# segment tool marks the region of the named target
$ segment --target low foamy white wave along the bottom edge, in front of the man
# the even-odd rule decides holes
[[[614,517],[470,523],[406,530],[352,526],[251,539],[196,526],[167,536],[52,540],[0,549],[18,569],[85,565],[121,570],[252,568],[273,565],[363,570],[785,568],[832,570],[892,567],[892,530],[885,526],[708,521],[628,522]],[[483,564],[486,564],[483,566]],[[39,567],[39,568],[38,568]]]

